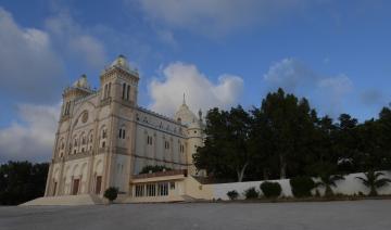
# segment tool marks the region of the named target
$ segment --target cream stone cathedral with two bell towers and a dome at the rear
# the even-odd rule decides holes
[[[102,199],[110,187],[125,202],[207,193],[194,179],[200,171],[192,162],[204,140],[201,111],[191,112],[185,95],[174,117],[139,106],[139,79],[119,55],[101,72],[98,90],[85,75],[64,89],[45,197],[67,197],[65,203],[72,196]],[[140,174],[146,166],[168,169]]]

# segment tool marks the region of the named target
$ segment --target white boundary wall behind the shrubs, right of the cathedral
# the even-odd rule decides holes
[[[383,171],[384,177],[391,179],[390,171]],[[358,194],[358,192],[363,192],[364,194],[369,193],[369,189],[366,188],[361,180],[356,177],[364,177],[364,174],[351,174],[346,175],[344,180],[337,181],[337,188],[332,188],[335,193],[342,193],[346,195]],[[316,180],[316,179],[314,179]],[[269,180],[273,182],[278,182],[281,186],[281,195],[282,196],[293,196],[291,191],[291,186],[289,183],[289,179],[283,180]],[[239,193],[239,199],[244,199],[244,191],[251,187],[255,187],[255,189],[262,194],[260,186],[263,181],[249,181],[249,182],[234,182],[234,183],[215,183],[209,184],[213,191],[213,199],[222,199],[229,200],[227,196],[227,192],[231,190],[236,190]],[[325,189],[318,188],[320,194],[324,194]],[[313,190],[315,193],[315,189]],[[388,186],[378,189],[379,194],[391,194],[391,183]]]

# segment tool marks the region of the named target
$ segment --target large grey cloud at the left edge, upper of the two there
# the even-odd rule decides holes
[[[50,36],[40,29],[18,26],[0,8],[0,94],[34,102],[51,101],[64,74],[61,60],[52,51]]]

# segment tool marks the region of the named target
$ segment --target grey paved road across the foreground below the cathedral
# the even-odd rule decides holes
[[[391,201],[0,207],[0,229],[391,230]]]

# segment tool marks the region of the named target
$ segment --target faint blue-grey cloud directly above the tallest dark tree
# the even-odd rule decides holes
[[[295,59],[273,64],[264,75],[269,90],[282,88],[287,92],[310,98],[323,113],[338,116],[345,97],[353,91],[352,80],[344,74],[325,76]]]

